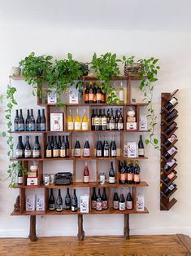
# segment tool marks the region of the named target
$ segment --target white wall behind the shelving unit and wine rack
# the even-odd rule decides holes
[[[0,94],[7,88],[11,66],[35,51],[37,55],[49,54],[55,58],[64,58],[72,52],[77,60],[89,61],[93,52],[116,52],[119,56],[137,55],[147,58],[152,55],[160,59],[161,71],[155,84],[154,105],[159,121],[160,94],[162,91],[180,89],[178,98],[179,130],[177,135],[179,154],[176,157],[179,166],[174,207],[166,212],[159,210],[159,152],[146,148],[149,157],[145,161],[145,181],[149,188],[141,190],[145,195],[145,204],[150,214],[130,216],[131,234],[165,234],[182,232],[191,235],[191,201],[190,196],[190,99],[191,99],[191,35],[184,32],[149,32],[125,30],[65,30],[62,27],[43,27],[38,25],[2,26],[0,27]],[[18,87],[20,94],[19,108],[35,106],[31,90],[24,82],[12,83]],[[21,90],[22,88],[22,90]],[[22,94],[21,94],[22,91]],[[0,130],[6,130],[4,108],[0,106]],[[35,107],[34,107],[35,108]],[[159,125],[158,125],[159,136]],[[0,176],[6,178],[9,164],[6,139],[1,138]],[[19,190],[7,188],[8,181],[0,183],[0,236],[28,236],[29,218],[11,217],[15,197]],[[121,235],[123,233],[122,215],[85,216],[86,235]],[[70,236],[77,233],[76,216],[37,217],[37,234],[39,236]]]

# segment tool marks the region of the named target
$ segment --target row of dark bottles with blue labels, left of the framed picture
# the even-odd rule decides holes
[[[14,130],[15,131],[34,131],[34,130],[46,130],[46,117],[45,117],[45,109],[38,109],[37,120],[33,116],[33,109],[31,109],[31,113],[29,109],[27,110],[27,117],[24,121],[22,109],[16,109],[15,120],[14,120]]]

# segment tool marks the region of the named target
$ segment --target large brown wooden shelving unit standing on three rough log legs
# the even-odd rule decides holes
[[[24,77],[22,76],[11,76],[10,77],[13,80],[24,80]],[[88,82],[89,80],[96,80],[95,77],[82,77],[82,80],[84,82]],[[108,196],[108,209],[107,210],[102,210],[102,211],[97,211],[97,210],[92,210],[91,207],[89,207],[89,214],[124,214],[124,237],[129,238],[129,214],[148,214],[149,211],[145,208],[144,211],[137,211],[137,188],[142,188],[142,187],[148,187],[148,183],[141,181],[140,184],[120,184],[119,183],[119,161],[120,160],[125,160],[125,161],[130,161],[130,160],[146,160],[148,157],[137,157],[137,158],[128,158],[124,157],[124,134],[126,133],[139,133],[139,132],[145,132],[142,130],[139,130],[139,117],[140,117],[140,108],[144,108],[147,106],[145,103],[135,103],[132,104],[130,99],[131,99],[131,81],[139,80],[139,77],[137,76],[131,76],[131,77],[115,77],[113,80],[123,80],[127,82],[127,99],[126,99],[126,104],[66,104],[66,108],[59,108],[59,111],[57,113],[63,113],[63,119],[64,119],[64,131],[63,132],[53,132],[50,131],[50,113],[53,111],[54,108],[58,108],[56,104],[45,104],[42,99],[37,98],[37,105],[44,107],[46,109],[46,131],[23,131],[23,132],[13,132],[14,135],[27,135],[27,134],[34,134],[37,135],[39,134],[41,136],[41,158],[39,159],[34,159],[34,158],[22,158],[19,159],[22,161],[23,166],[28,168],[30,161],[39,161],[39,170],[38,170],[38,185],[37,186],[27,186],[26,183],[26,175],[24,175],[24,184],[23,185],[18,185],[15,184],[15,188],[20,189],[20,211],[19,212],[12,212],[11,215],[14,216],[20,216],[20,215],[29,215],[30,216],[30,234],[29,238],[31,241],[37,241],[37,236],[36,236],[36,216],[37,215],[64,215],[64,214],[74,214],[78,216],[78,239],[83,240],[85,236],[85,232],[83,230],[83,215],[80,213],[80,210],[77,212],[72,212],[72,211],[67,211],[63,210],[63,212],[58,213],[56,211],[50,211],[48,210],[48,196],[49,196],[49,189],[50,188],[89,188],[89,205],[91,205],[91,192],[92,188],[106,188],[107,196]],[[137,130],[126,130],[126,113],[127,113],[127,108],[128,106],[134,106],[136,108],[136,115],[137,115]],[[93,108],[102,108],[102,107],[118,107],[122,108],[123,111],[123,117],[124,117],[124,130],[123,131],[117,131],[117,130],[85,130],[85,131],[67,131],[67,110],[69,108],[89,108],[88,116],[91,117],[92,109]],[[91,127],[91,118],[89,118],[89,127]],[[84,133],[89,133],[92,138],[93,138],[93,145],[92,145],[92,157],[72,157],[72,138],[73,136],[84,134]],[[69,157],[67,158],[46,158],[46,141],[47,141],[47,136],[48,135],[68,135],[69,138],[69,143],[70,143],[70,151],[69,151]],[[110,134],[115,134],[119,136],[119,156],[117,157],[96,157],[94,155],[94,148],[96,148],[96,138],[98,134],[102,135],[110,135]],[[11,161],[18,161],[16,158],[12,158]],[[42,183],[42,175],[43,175],[43,162],[44,161],[72,161],[73,162],[73,183],[69,186],[55,186],[54,184],[45,186]],[[76,168],[77,168],[77,161],[95,161],[95,166],[96,166],[96,180],[90,183],[82,183],[76,181]],[[98,163],[99,161],[108,161],[110,164],[110,161],[115,161],[115,170],[116,170],[116,181],[117,183],[115,184],[109,184],[105,183],[104,185],[100,185],[98,183]],[[108,166],[109,168],[109,166]],[[132,210],[124,210],[124,211],[119,211],[119,210],[114,210],[112,208],[111,204],[111,190],[113,188],[127,188],[130,187],[132,188],[132,197],[133,197],[133,209]],[[45,198],[45,210],[44,211],[26,211],[25,209],[25,190],[28,188],[41,188],[44,191],[44,198]]]

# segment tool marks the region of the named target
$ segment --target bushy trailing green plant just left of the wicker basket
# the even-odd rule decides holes
[[[112,55],[111,52],[107,52],[105,55],[100,55],[100,57],[94,53],[92,61],[90,62],[95,76],[98,80],[103,81],[100,86],[103,92],[108,93],[108,104],[116,103],[118,100],[117,96],[113,92],[114,88],[111,84],[111,79],[113,77],[119,77],[119,62],[121,62],[121,60],[118,60],[116,58],[116,54]]]

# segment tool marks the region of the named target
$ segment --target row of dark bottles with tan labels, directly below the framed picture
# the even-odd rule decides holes
[[[50,139],[51,138],[51,139]],[[69,141],[68,136],[61,136],[59,135],[59,139],[57,140],[57,136],[48,136],[48,141],[46,144],[46,157],[69,157]]]

